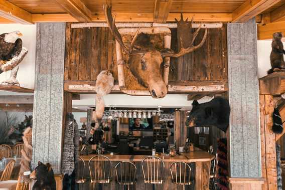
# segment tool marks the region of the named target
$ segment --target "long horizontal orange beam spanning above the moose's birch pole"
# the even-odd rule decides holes
[[[223,22],[232,21],[230,13],[184,13],[184,18],[194,17],[195,22]],[[33,14],[33,22],[77,22],[69,14]],[[175,18],[180,18],[179,13],[170,13],[167,22],[174,22]],[[103,13],[92,14],[92,22],[106,22]],[[154,13],[117,13],[116,22],[154,22]]]

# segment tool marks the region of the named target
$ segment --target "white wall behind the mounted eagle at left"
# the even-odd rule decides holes
[[[19,64],[17,80],[21,87],[34,89],[35,84],[35,59],[36,59],[36,25],[6,24],[0,25],[0,34],[20,31],[23,36],[23,46],[28,49],[28,54]],[[0,74],[0,82],[9,79],[10,72]]]

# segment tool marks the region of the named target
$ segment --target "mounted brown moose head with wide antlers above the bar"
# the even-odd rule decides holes
[[[112,17],[111,7],[104,6],[105,18],[108,27],[116,40],[116,50],[118,47],[128,55],[128,64],[130,71],[137,78],[139,83],[149,89],[149,92],[153,98],[163,98],[167,95],[168,89],[168,74],[169,74],[169,57],[178,58],[187,53],[193,52],[203,46],[207,38],[207,29],[205,29],[203,39],[201,42],[193,46],[197,35],[200,32],[200,27],[192,34],[192,21],[189,23],[183,21],[181,15],[181,21],[177,21],[178,25],[178,37],[180,41],[180,51],[174,52],[173,50],[166,48],[158,50],[151,42],[150,36],[145,33],[140,33],[140,28],[137,29],[134,37],[131,40],[130,45],[127,47],[122,37],[115,26],[115,16]],[[161,72],[161,66],[163,64],[164,72]],[[122,54],[117,51],[117,66],[118,66],[118,81],[120,90],[125,91],[124,85],[124,60]]]

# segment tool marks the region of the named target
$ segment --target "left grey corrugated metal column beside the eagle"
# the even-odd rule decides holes
[[[60,173],[65,23],[37,24],[32,168],[49,162]],[[28,77],[28,76],[27,76]]]

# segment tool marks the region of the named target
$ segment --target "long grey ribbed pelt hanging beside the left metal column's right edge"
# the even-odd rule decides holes
[[[64,130],[64,146],[61,171],[70,175],[75,169],[79,156],[79,132],[78,125],[71,113],[67,114]]]

